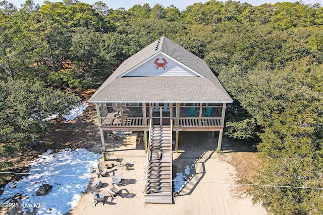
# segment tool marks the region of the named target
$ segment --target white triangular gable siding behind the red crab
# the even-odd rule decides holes
[[[157,60],[157,58],[159,58]],[[165,59],[167,64],[164,63]],[[158,67],[154,62],[164,63],[164,67]],[[165,68],[165,69],[164,69]],[[197,76],[189,69],[180,65],[176,61],[170,59],[169,57],[158,54],[156,57],[148,60],[142,65],[138,66],[130,73],[126,74],[125,77],[142,77],[142,76]]]

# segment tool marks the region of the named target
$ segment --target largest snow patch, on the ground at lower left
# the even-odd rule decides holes
[[[23,198],[19,207],[24,213],[33,211],[35,206],[37,214],[66,214],[77,205],[86,190],[90,173],[99,157],[101,155],[85,149],[65,149],[54,154],[49,150],[30,162],[28,177],[3,188],[0,201],[9,202],[15,195],[21,194]],[[35,192],[43,183],[53,188],[49,194],[37,196]]]

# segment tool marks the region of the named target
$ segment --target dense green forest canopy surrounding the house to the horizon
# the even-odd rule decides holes
[[[17,9],[3,1],[0,105],[12,107],[8,98],[17,86],[35,82],[41,83],[35,92],[97,88],[123,60],[166,36],[203,58],[234,99],[225,132],[257,145],[262,161],[250,183],[278,186],[252,187],[254,201],[273,214],[321,214],[322,27],[323,8],[303,2],[211,0],[179,11],[160,4],[113,10],[73,0],[41,6],[27,0]],[[0,117],[6,143],[13,127],[4,130],[9,118]]]

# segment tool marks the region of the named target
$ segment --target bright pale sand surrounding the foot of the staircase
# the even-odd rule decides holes
[[[173,178],[177,172],[184,173],[187,165],[193,165],[190,182],[173,198],[173,204],[145,203],[146,154],[144,145],[136,144],[135,134],[129,133],[115,142],[106,141],[109,176],[124,174],[125,185],[115,199],[106,188],[112,187],[111,177],[97,177],[92,173],[88,189],[83,193],[71,214],[266,214],[265,209],[253,205],[251,198],[237,194],[237,180],[233,166],[225,162],[223,156],[214,151],[217,139],[210,138],[210,132],[180,132],[179,153],[173,153]],[[226,142],[223,142],[226,148]],[[92,149],[93,151],[97,149]],[[117,158],[123,158],[121,163]],[[102,158],[101,158],[102,159]],[[126,165],[130,170],[126,170]],[[93,186],[95,180],[102,181],[102,187]],[[105,191],[104,205],[94,206],[93,192]]]

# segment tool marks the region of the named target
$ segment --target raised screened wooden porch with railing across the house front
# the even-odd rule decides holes
[[[96,105],[99,126],[102,130],[149,129],[151,119],[153,125],[170,126],[172,121],[173,130],[217,131],[223,128],[226,107],[225,103],[104,103]],[[210,111],[207,112],[207,110]]]

